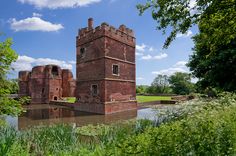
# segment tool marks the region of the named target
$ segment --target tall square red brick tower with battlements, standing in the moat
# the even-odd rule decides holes
[[[102,23],[79,30],[76,38],[78,109],[111,114],[137,109],[135,37],[131,29]]]

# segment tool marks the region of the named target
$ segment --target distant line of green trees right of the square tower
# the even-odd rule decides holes
[[[137,94],[178,94],[187,95],[195,92],[195,84],[188,73],[176,72],[174,75],[157,75],[151,86],[139,85]]]

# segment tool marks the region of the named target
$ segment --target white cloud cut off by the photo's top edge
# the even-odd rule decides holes
[[[34,5],[36,8],[75,8],[98,3],[101,0],[18,0],[21,3]]]

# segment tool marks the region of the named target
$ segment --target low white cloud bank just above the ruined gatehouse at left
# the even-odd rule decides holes
[[[66,62],[62,60],[50,59],[50,58],[32,58],[29,56],[19,56],[16,62],[12,63],[13,69],[16,71],[21,70],[31,70],[33,66],[38,65],[48,65],[48,64],[55,64],[60,66],[63,69],[70,69],[72,70],[74,62]]]

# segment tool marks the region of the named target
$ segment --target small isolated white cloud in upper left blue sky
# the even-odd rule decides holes
[[[39,17],[29,17],[17,21],[15,18],[10,19],[11,29],[15,31],[58,31],[64,27],[61,24],[53,24],[44,21]]]

